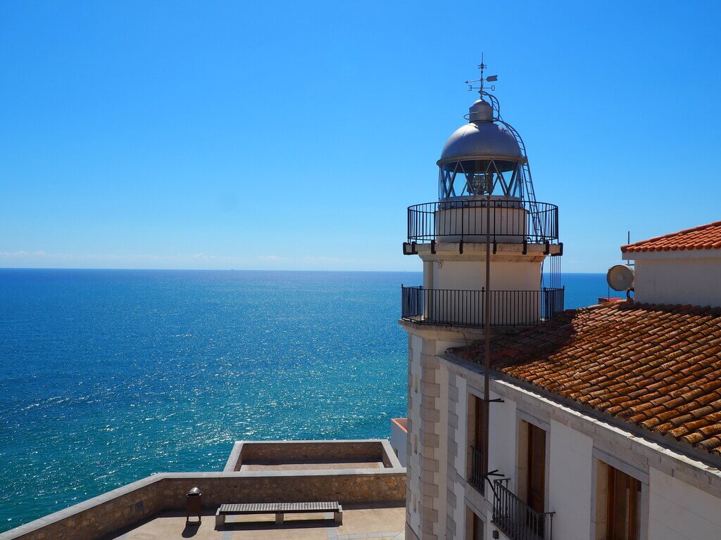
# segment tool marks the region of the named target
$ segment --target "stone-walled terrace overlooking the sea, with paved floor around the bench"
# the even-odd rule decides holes
[[[260,464],[296,465],[239,470],[242,456]],[[327,466],[318,469],[319,462]],[[369,463],[373,467],[363,467]],[[207,515],[200,527],[185,526],[186,494],[191,487],[203,494]],[[239,442],[224,472],[154,474],[14,528],[0,534],[0,540],[392,538],[403,530],[405,492],[406,469],[388,441],[268,441],[247,444],[245,449]],[[268,516],[234,524],[249,521],[238,516],[215,529],[214,513],[224,503],[320,501],[343,506],[342,526],[319,519],[293,521],[293,514],[288,514],[283,526],[265,523]]]

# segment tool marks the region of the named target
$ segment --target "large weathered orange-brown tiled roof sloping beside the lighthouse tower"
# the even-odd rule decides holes
[[[483,343],[452,349],[484,362]],[[616,302],[493,338],[492,369],[721,454],[721,309]]]

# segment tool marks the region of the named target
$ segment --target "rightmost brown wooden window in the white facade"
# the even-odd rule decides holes
[[[641,482],[611,465],[596,469],[596,540],[638,540]]]

